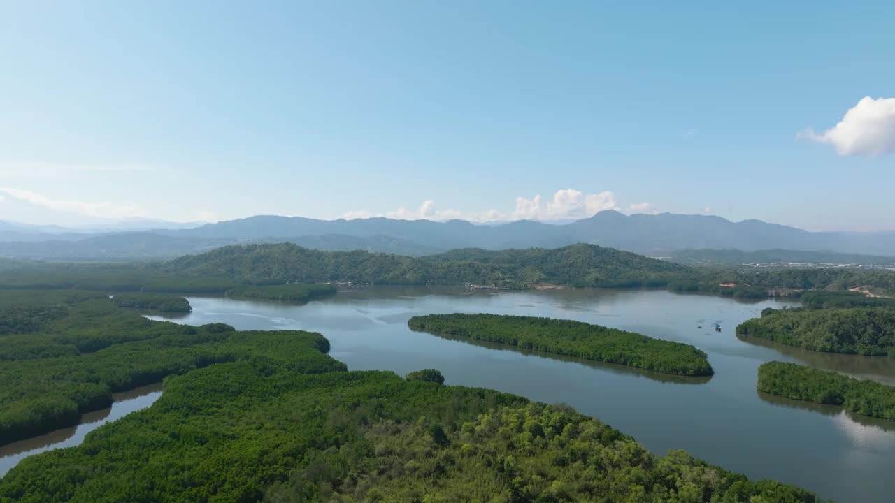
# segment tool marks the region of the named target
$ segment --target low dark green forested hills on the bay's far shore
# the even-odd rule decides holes
[[[393,285],[523,287],[664,286],[692,269],[592,244],[545,250],[457,250],[422,258],[371,252],[320,252],[292,243],[226,246],[172,260],[166,269],[248,281],[350,281]]]

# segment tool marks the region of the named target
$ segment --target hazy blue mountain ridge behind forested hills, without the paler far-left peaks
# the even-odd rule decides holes
[[[384,234],[445,251],[456,248],[556,248],[592,243],[630,252],[656,254],[685,249],[831,251],[895,255],[895,232],[809,232],[761,220],[731,222],[706,215],[624,215],[601,211],[567,225],[519,220],[494,226],[464,220],[395,220],[359,218],[317,220],[304,217],[257,216],[207,224],[180,234],[202,237],[259,238],[275,235]]]

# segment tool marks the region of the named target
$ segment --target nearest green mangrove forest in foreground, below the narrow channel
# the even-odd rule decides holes
[[[566,406],[255,362],[166,380],[155,405],[31,456],[0,501],[811,503],[682,451],[654,456]]]

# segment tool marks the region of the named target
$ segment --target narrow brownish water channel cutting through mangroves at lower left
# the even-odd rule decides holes
[[[70,448],[84,441],[90,431],[103,424],[120,419],[125,415],[152,405],[162,395],[162,383],[141,386],[130,391],[114,393],[113,404],[107,409],[81,415],[81,424],[61,430],[51,431],[46,435],[20,440],[0,447],[0,477],[9,472],[13,466],[28,457],[57,448]]]

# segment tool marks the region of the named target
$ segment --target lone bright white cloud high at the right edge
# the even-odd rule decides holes
[[[862,98],[827,131],[818,134],[808,129],[796,136],[832,145],[840,156],[890,154],[895,151],[895,98]]]

